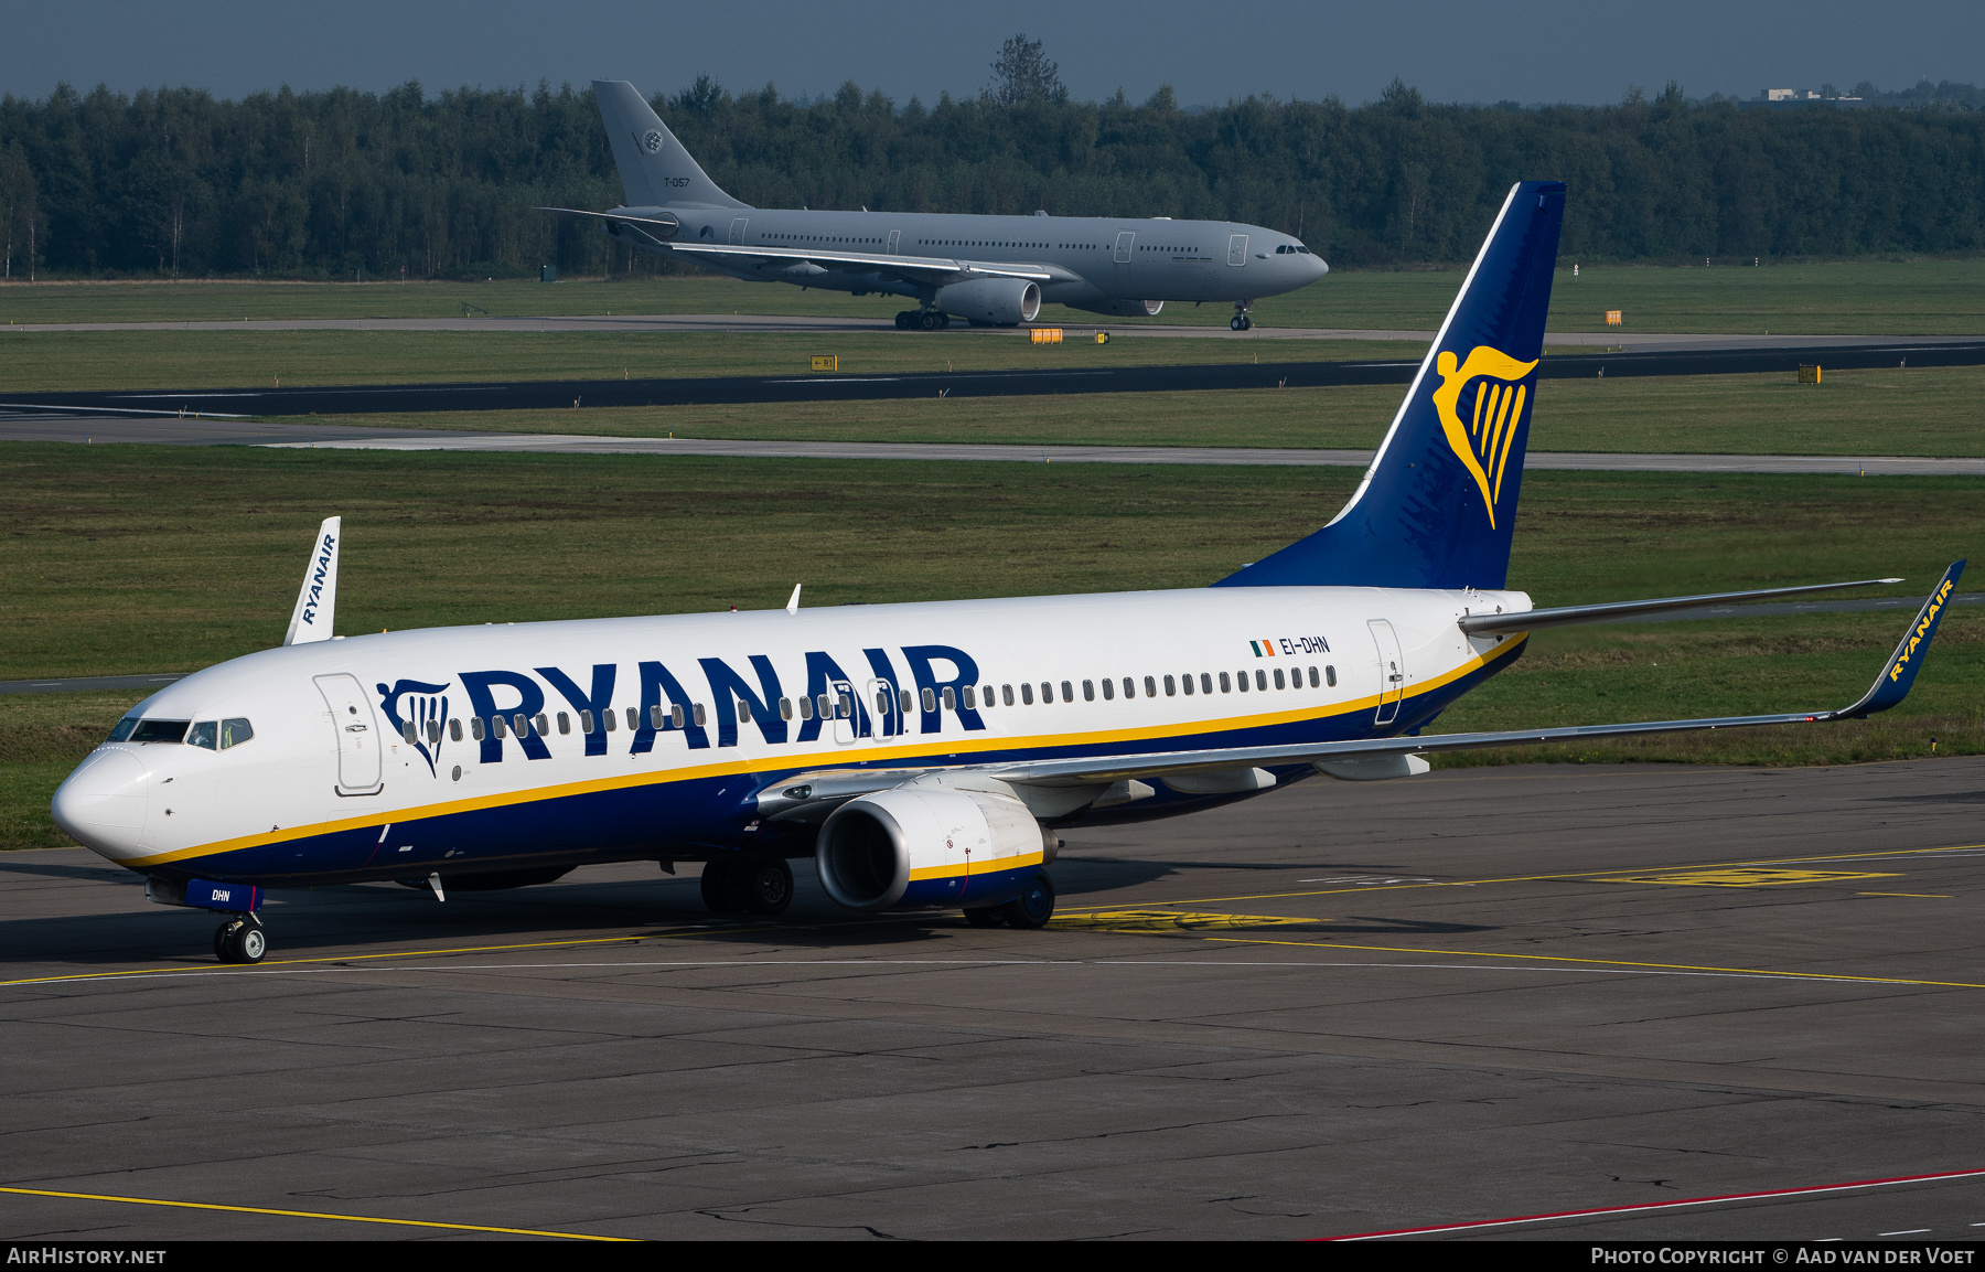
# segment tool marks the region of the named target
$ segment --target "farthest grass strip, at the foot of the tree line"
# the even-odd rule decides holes
[[[1745,333],[1985,333],[1985,260],[1783,264],[1765,268],[1558,270],[1554,331],[1604,329],[1622,310],[1626,331]],[[1431,329],[1461,284],[1459,268],[1336,272],[1255,306],[1266,327]],[[572,314],[794,314],[887,321],[905,308],[889,296],[800,292],[711,276],[574,280],[560,284],[6,284],[0,325],[44,321],[236,321],[272,318],[461,318],[463,306],[498,316]],[[1225,304],[1171,304],[1151,321],[1225,325]],[[1096,323],[1094,314],[1046,306],[1042,321]],[[945,339],[937,335],[935,339]]]

